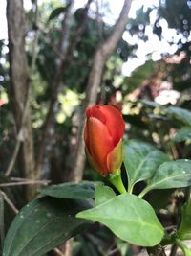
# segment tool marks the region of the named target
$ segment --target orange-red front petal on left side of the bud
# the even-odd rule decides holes
[[[108,129],[95,117],[87,120],[87,141],[88,151],[93,157],[96,165],[99,166],[99,172],[107,173],[107,154],[114,148],[111,135]]]

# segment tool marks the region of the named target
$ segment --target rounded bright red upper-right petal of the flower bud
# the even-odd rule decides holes
[[[118,141],[122,138],[125,128],[122,115],[116,107],[111,105],[100,105],[99,109],[106,117],[105,125],[113,138],[114,146],[116,146]]]

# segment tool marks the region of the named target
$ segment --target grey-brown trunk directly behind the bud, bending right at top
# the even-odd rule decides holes
[[[90,105],[96,104],[96,96],[101,77],[103,73],[104,65],[113,51],[117,47],[118,40],[122,37],[125,30],[125,26],[128,20],[128,13],[131,7],[132,0],[125,0],[123,8],[117,19],[117,23],[113,28],[111,35],[104,41],[96,50],[96,55],[93,61],[92,69],[89,75],[86,98],[82,105],[82,112],[80,116],[81,126],[78,128],[77,134],[77,147],[74,152],[74,169],[71,173],[74,181],[80,181],[83,175],[85,164],[85,151],[83,143],[83,128],[85,123],[85,109]]]

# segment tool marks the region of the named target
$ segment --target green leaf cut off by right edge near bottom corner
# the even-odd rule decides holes
[[[177,234],[180,240],[191,239],[191,200],[181,208],[181,222]]]

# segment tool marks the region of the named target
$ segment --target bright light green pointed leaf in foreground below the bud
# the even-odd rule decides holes
[[[128,193],[78,213],[77,217],[99,221],[120,239],[140,246],[159,244],[164,235],[164,229],[151,205]]]

